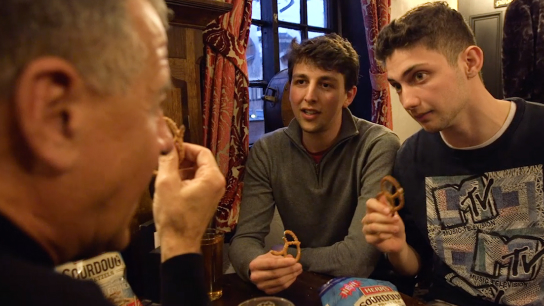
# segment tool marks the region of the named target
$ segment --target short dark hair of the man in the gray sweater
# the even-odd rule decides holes
[[[295,65],[303,62],[342,74],[346,91],[357,86],[359,81],[359,55],[351,43],[338,34],[314,37],[300,44],[293,39],[287,66],[289,82],[293,79]]]

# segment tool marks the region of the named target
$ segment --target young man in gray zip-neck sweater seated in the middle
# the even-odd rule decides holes
[[[390,130],[347,108],[359,73],[348,41],[329,34],[293,42],[288,67],[295,119],[251,149],[229,250],[238,275],[268,294],[289,287],[303,269],[359,277],[373,271],[380,253],[365,242],[361,219],[399,148]],[[301,241],[299,263],[264,248],[275,207]]]

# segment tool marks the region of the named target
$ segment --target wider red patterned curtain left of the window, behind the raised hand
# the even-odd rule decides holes
[[[227,179],[227,191],[214,219],[230,232],[238,222],[244,166],[249,147],[249,92],[246,49],[251,24],[251,0],[225,0],[232,10],[210,22],[203,32],[204,145],[215,155]]]

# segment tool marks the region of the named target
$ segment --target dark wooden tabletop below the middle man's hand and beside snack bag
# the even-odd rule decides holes
[[[286,298],[296,306],[322,306],[319,298],[319,289],[331,279],[330,276],[302,272],[297,280],[288,289],[274,294]],[[213,301],[213,306],[238,306],[250,298],[265,296],[266,294],[253,284],[244,282],[236,273],[223,275],[223,296]],[[415,298],[402,294],[406,306],[424,305]]]

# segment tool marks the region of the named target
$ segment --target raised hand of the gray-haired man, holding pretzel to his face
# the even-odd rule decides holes
[[[159,157],[155,180],[153,217],[161,240],[161,259],[200,253],[200,242],[219,200],[225,193],[225,177],[207,148],[184,143],[183,167],[193,167],[194,177],[182,178],[178,154]],[[184,175],[185,176],[185,175]]]

